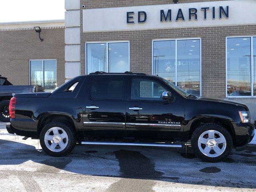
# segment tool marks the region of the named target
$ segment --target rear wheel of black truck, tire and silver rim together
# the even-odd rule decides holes
[[[76,145],[76,132],[62,122],[51,122],[40,133],[40,144],[50,156],[60,157],[72,151]]]

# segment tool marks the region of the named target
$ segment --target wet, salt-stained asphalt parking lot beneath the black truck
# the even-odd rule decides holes
[[[206,163],[176,149],[76,146],[47,156],[38,140],[8,134],[0,122],[0,191],[256,191],[256,145]],[[255,143],[255,138],[254,138]]]

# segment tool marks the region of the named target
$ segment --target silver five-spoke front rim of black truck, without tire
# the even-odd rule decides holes
[[[220,156],[226,146],[226,138],[216,130],[207,130],[198,139],[199,150],[208,157]]]

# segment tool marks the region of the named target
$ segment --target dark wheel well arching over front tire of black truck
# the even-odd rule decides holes
[[[216,124],[222,126],[226,130],[228,130],[228,132],[232,136],[233,143],[235,142],[234,127],[228,120],[224,120],[221,118],[199,118],[199,119],[195,120],[194,122],[192,122],[192,124],[190,126],[189,139],[191,139],[191,136],[192,136],[194,130],[196,130],[196,128],[198,128],[201,124],[204,124],[204,123],[216,123]]]

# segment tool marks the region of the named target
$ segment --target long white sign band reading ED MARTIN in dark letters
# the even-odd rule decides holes
[[[83,32],[256,24],[256,0],[83,10]]]

